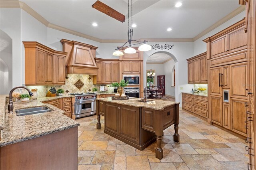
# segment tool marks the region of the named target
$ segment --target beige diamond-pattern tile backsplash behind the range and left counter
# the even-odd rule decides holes
[[[79,81],[80,80],[80,81]],[[79,85],[77,85],[79,82]],[[84,85],[83,85],[84,84]],[[82,86],[82,87],[81,87]],[[84,92],[92,92],[94,87],[100,89],[100,85],[93,84],[93,76],[84,75],[84,74],[68,74],[66,77],[65,85],[38,85],[38,86],[26,86],[28,89],[38,89],[38,97],[45,97],[48,90],[51,87],[55,87],[57,89],[64,89],[64,94],[69,93],[84,93]],[[78,89],[80,88],[80,89]],[[108,92],[113,92],[113,87],[108,87]],[[27,93],[23,91],[23,93]]]

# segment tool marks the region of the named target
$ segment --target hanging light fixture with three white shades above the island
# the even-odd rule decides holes
[[[131,3],[132,3],[132,0],[131,0]],[[132,20],[132,4],[131,4],[131,20]],[[124,43],[124,45],[122,45],[121,47],[117,47],[113,55],[120,56],[120,55],[124,55],[124,53],[128,53],[128,54],[136,53],[136,49],[132,48],[132,46],[142,44],[142,43],[143,44],[140,45],[138,48],[139,51],[149,51],[150,49],[152,49],[150,45],[146,44],[146,42],[149,42],[149,41],[144,40],[144,42],[139,42],[137,40],[132,40],[133,29],[132,28],[130,29],[130,0],[128,0],[128,33],[127,35],[128,35],[128,42],[126,43],[129,43],[129,45],[126,45],[126,43]],[[135,42],[135,43],[132,44],[132,42]],[[119,51],[122,48],[126,48],[124,50],[124,53],[122,51]]]

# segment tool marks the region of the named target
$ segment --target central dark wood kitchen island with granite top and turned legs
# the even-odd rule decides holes
[[[104,133],[143,150],[157,142],[156,158],[163,158],[163,130],[174,124],[174,141],[179,142],[179,103],[156,100],[147,104],[140,98],[112,100],[111,97],[96,99],[97,128],[101,128],[100,115],[104,116]],[[150,100],[149,100],[150,101]]]

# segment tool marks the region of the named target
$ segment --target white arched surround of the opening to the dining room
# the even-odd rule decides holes
[[[150,57],[150,55],[153,55],[153,54],[156,54],[156,53],[165,53],[165,54],[167,54],[167,55],[169,55],[170,57],[172,57],[172,59],[174,60],[174,62],[175,62],[175,82],[176,82],[176,85],[175,85],[175,87],[172,87],[172,88],[174,88],[175,89],[175,94],[174,94],[174,96],[175,96],[175,101],[176,102],[179,102],[179,94],[178,94],[178,87],[179,87],[179,81],[178,81],[178,75],[179,75],[179,71],[178,71],[178,59],[172,54],[172,53],[170,53],[170,52],[168,52],[168,51],[161,51],[161,50],[159,50],[159,51],[153,51],[153,50],[150,50],[150,51],[146,51],[146,52],[144,52],[144,60],[143,60],[143,67],[144,67],[144,69],[143,69],[143,72],[144,72],[144,77],[143,77],[143,82],[144,82],[144,85],[146,85],[147,84],[147,81],[146,81],[146,62],[147,62],[147,59],[148,59],[148,57]],[[171,69],[171,68],[169,68],[169,69]],[[168,77],[166,77],[166,78],[168,78]],[[170,78],[169,78],[170,79]]]

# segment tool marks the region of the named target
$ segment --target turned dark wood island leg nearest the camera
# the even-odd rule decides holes
[[[164,156],[164,150],[162,149],[162,136],[163,132],[163,115],[161,111],[154,111],[155,113],[155,134],[156,134],[156,158],[162,159]]]

